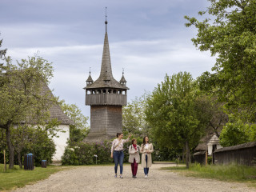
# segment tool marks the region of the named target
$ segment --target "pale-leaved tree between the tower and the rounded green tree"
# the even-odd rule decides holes
[[[150,126],[146,122],[144,110],[146,108],[146,93],[135,98],[122,108],[122,130],[126,134],[144,137],[150,134]]]

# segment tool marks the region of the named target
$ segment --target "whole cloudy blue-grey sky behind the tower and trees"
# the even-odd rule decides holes
[[[107,6],[108,37],[114,78],[122,68],[128,102],[152,91],[166,74],[187,71],[197,78],[214,66],[210,53],[197,50],[185,15],[199,18],[207,0],[1,0],[2,48],[14,60],[40,56],[53,62],[50,89],[86,116],[86,79],[100,73]]]

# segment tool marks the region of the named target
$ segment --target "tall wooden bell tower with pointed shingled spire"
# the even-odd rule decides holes
[[[107,21],[105,22],[107,26]],[[90,106],[90,133],[85,142],[104,141],[122,132],[122,106],[127,104],[126,79],[114,79],[110,62],[107,30],[104,39],[102,67],[94,82],[89,75],[86,80],[86,106]]]

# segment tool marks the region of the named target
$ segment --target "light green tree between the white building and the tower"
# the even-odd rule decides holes
[[[63,112],[74,122],[70,125],[70,141],[80,142],[89,133],[88,119],[75,104],[67,104],[64,100],[60,101]]]

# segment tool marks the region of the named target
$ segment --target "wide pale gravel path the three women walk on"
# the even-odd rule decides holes
[[[159,170],[162,166],[171,165],[154,164],[150,168],[149,178],[144,178],[142,167],[138,166],[136,179],[131,178],[129,165],[124,166],[122,179],[114,178],[114,166],[79,166],[52,174],[46,180],[14,191],[256,191],[236,182],[183,177],[170,170]]]

